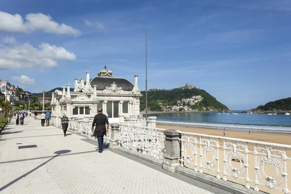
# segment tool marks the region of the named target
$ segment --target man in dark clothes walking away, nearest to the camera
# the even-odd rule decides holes
[[[109,129],[109,122],[108,118],[105,114],[103,114],[103,110],[98,108],[98,114],[95,115],[92,129],[94,129],[93,136],[98,139],[98,147],[99,153],[103,152],[103,142],[104,142],[104,135],[108,132]]]

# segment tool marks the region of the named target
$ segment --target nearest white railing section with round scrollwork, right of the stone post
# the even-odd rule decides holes
[[[287,161],[291,158],[286,155],[286,149],[290,151],[291,146],[182,131],[179,133],[181,166],[185,165],[200,173],[203,173],[203,169],[214,171],[216,178],[222,176],[224,181],[241,179],[245,188],[253,187],[255,191],[266,191],[268,187],[285,194],[291,193],[287,187],[287,170],[291,170],[291,163]]]

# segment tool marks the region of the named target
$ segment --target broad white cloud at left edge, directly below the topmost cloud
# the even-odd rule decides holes
[[[0,69],[57,68],[59,61],[75,60],[74,53],[48,43],[42,43],[38,48],[29,43],[0,48]]]

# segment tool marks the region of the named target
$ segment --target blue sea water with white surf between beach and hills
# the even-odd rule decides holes
[[[145,116],[145,114],[144,114]],[[148,113],[157,124],[192,126],[211,129],[291,133],[291,115],[266,113]]]

